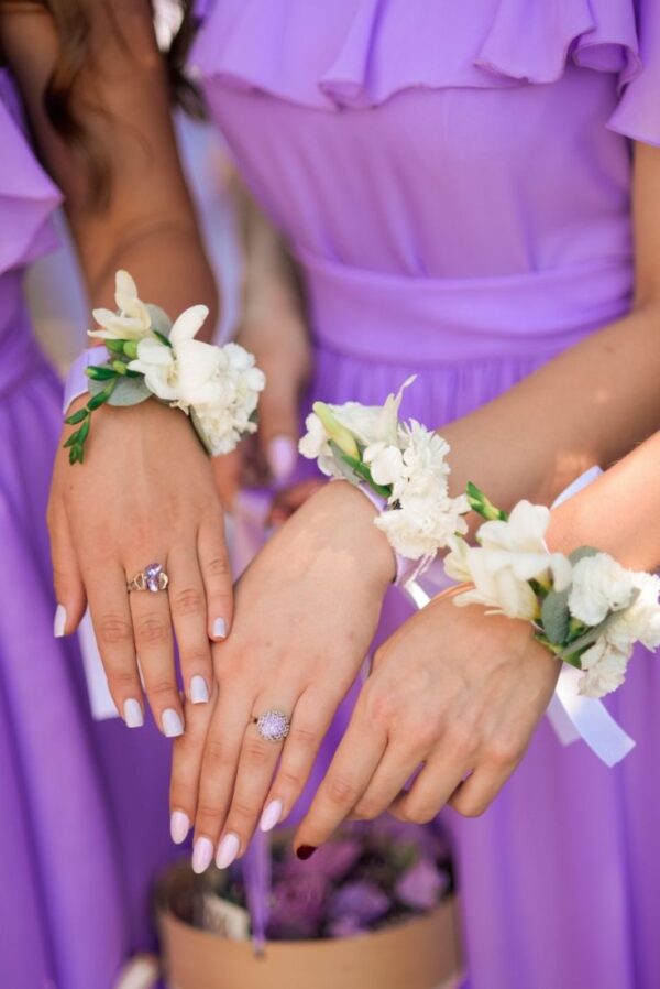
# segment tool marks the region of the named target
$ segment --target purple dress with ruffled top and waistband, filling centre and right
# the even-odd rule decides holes
[[[416,373],[439,425],[628,311],[657,0],[216,0],[194,61],[300,261],[315,396]],[[543,721],[482,818],[448,812],[474,989],[660,986],[656,661],[608,706],[616,769]]]

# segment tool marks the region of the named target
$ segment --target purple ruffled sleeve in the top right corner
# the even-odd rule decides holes
[[[660,0],[638,0],[636,18],[640,65],[625,83],[608,127],[660,146]]]

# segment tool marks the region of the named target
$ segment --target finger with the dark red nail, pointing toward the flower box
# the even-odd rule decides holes
[[[294,847],[298,858],[309,858],[349,816],[367,789],[386,743],[387,736],[383,729],[353,715],[311,807],[296,833]]]

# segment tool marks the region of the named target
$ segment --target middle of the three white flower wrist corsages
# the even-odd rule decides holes
[[[397,555],[416,562],[419,576],[451,536],[468,531],[470,506],[464,496],[449,494],[449,444],[415,420],[398,420],[404,389],[414,380],[384,405],[316,402],[299,450],[328,477],[382,499],[375,524]]]

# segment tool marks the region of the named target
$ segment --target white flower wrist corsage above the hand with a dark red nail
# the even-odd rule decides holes
[[[447,574],[469,583],[457,605],[483,605],[491,613],[530,621],[535,638],[584,674],[580,693],[603,697],[626,676],[637,642],[660,646],[660,577],[625,569],[607,553],[581,546],[550,553],[550,510],[520,501],[507,515],[474,485],[471,508],[486,521],[476,546],[451,540]]]

